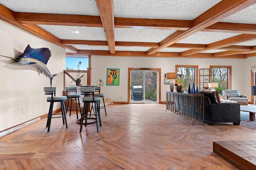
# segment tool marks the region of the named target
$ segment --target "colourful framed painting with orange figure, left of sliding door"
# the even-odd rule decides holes
[[[107,68],[106,86],[119,86],[120,68]]]

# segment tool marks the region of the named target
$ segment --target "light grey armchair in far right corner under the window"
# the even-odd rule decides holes
[[[233,100],[240,105],[248,105],[249,99],[245,95],[240,95],[239,90],[225,89],[222,90],[222,98],[224,100]]]

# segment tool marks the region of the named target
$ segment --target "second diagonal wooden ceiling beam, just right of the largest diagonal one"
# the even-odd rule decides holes
[[[219,48],[226,47],[229,45],[233,45],[233,44],[237,44],[237,43],[244,43],[244,42],[252,41],[255,39],[256,39],[255,34],[237,35],[237,36],[223,39],[223,40],[220,40],[220,41],[217,41],[214,43],[210,43],[207,45],[206,49],[191,49],[191,50],[183,51],[183,52],[181,52],[181,55],[186,56],[186,55],[195,54],[195,53],[208,51],[208,50],[212,50],[212,49],[219,49]]]

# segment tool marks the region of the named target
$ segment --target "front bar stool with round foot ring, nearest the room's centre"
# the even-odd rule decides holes
[[[85,95],[85,97],[82,98],[83,102],[84,102],[84,108],[83,108],[83,112],[82,112],[82,116],[80,119],[80,133],[82,131],[82,126],[83,126],[83,122],[85,120],[85,127],[87,124],[91,124],[91,123],[96,123],[97,126],[97,132],[99,132],[99,125],[98,122],[100,123],[100,127],[101,127],[101,120],[100,120],[100,109],[99,109],[99,103],[100,103],[100,97],[98,96],[94,96],[94,91],[95,88],[94,87],[80,87],[80,92],[82,94]],[[95,113],[94,114],[90,114],[88,117],[88,109],[89,109],[89,104],[94,104],[95,106]],[[92,117],[91,117],[92,116]],[[95,117],[94,117],[95,116]],[[87,120],[90,119],[94,119],[95,122],[90,122],[87,123]]]

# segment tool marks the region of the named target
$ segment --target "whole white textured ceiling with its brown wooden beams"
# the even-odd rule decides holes
[[[256,0],[0,0],[0,20],[67,55],[256,56]]]

